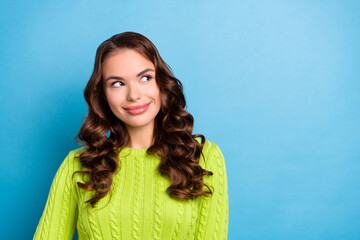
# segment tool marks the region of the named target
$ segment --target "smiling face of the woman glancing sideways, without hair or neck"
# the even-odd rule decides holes
[[[102,66],[105,98],[126,127],[153,127],[161,106],[155,66],[132,49],[110,54]]]

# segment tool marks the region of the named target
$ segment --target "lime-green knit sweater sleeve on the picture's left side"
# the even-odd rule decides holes
[[[73,161],[74,156],[70,152],[56,172],[34,240],[73,238],[78,216],[78,197],[75,181],[72,181]]]

